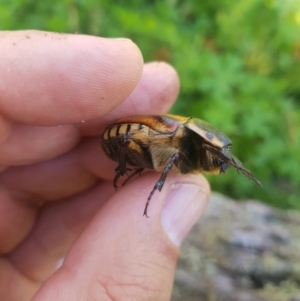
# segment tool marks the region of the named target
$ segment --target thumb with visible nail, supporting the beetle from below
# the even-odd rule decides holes
[[[170,174],[146,218],[158,177],[145,174],[114,194],[33,300],[170,299],[178,246],[203,212],[209,186],[201,175]]]

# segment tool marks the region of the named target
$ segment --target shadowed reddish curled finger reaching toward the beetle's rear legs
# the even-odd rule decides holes
[[[101,168],[101,162],[97,158],[97,150],[100,151],[99,139],[93,140],[94,158]],[[71,152],[52,160],[11,167],[0,175],[1,182],[5,189],[25,201],[58,200],[86,190],[98,181],[98,177],[86,168],[81,159],[83,152],[92,151],[87,149],[86,144],[83,141]]]

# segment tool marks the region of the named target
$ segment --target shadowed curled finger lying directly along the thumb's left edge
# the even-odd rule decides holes
[[[110,182],[42,208],[34,229],[8,258],[22,275],[43,282],[71,244],[115,193]]]

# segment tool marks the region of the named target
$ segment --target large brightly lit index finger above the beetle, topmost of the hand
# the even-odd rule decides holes
[[[102,116],[142,74],[141,53],[127,39],[16,31],[0,33],[0,41],[0,111],[15,122],[61,125]]]

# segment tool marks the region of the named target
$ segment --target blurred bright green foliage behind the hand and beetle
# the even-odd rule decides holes
[[[232,170],[210,177],[213,189],[300,209],[297,0],[2,0],[0,26],[131,38],[145,61],[178,70],[173,112],[221,129],[263,183]]]

